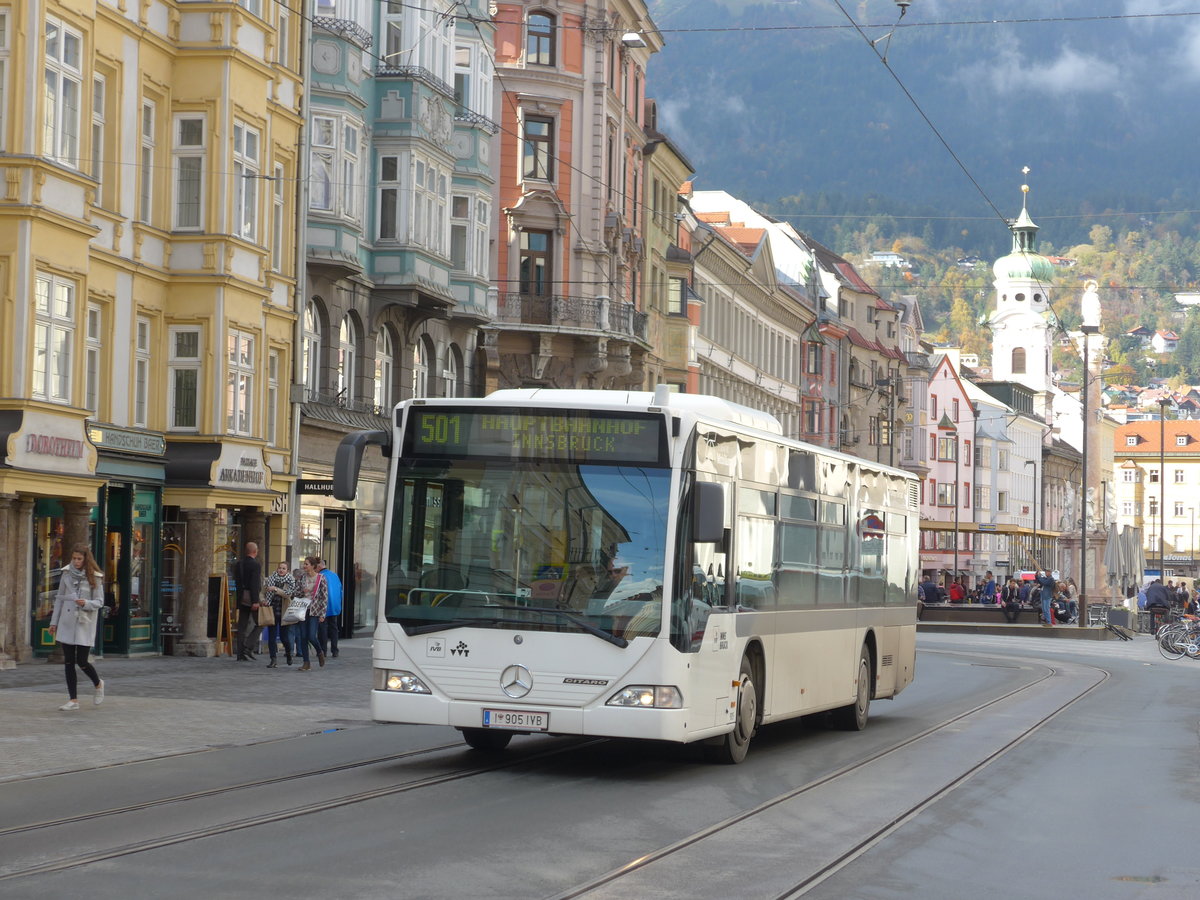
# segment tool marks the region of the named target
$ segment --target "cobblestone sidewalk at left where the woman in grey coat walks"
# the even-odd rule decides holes
[[[79,673],[79,710],[61,664],[0,671],[0,781],[114,766],[370,725],[371,638],[340,643],[337,659],[300,672],[300,660],[145,656],[95,660],[106,698],[94,706]]]

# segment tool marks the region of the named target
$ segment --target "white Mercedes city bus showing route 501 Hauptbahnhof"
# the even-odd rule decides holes
[[[337,451],[389,460],[376,721],[706,742],[913,677],[918,486],[715,397],[504,390],[412,400]]]

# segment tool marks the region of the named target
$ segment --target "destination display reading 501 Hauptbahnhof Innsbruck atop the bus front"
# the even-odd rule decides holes
[[[406,456],[666,463],[662,416],[590,410],[416,407],[408,414]]]

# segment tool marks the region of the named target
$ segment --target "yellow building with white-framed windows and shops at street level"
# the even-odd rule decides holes
[[[0,0],[0,665],[106,570],[109,653],[212,652],[286,550],[301,28],[269,0]]]

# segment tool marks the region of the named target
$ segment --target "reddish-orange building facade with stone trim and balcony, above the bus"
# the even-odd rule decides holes
[[[486,388],[642,388],[646,65],[640,0],[496,6],[498,299]]]

